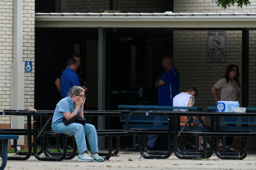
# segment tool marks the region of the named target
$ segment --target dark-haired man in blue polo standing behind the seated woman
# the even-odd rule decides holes
[[[67,60],[67,67],[63,71],[61,76],[61,96],[66,97],[69,90],[73,86],[81,86],[79,77],[76,74],[78,69],[77,61],[74,58],[69,58]]]

